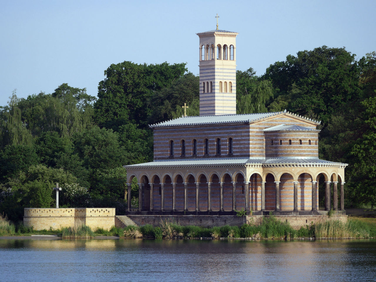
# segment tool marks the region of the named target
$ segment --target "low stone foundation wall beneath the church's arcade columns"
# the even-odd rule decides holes
[[[162,220],[174,220],[180,225],[201,227],[241,226],[244,222],[259,225],[262,222],[262,215],[248,215],[245,219],[236,215],[127,215],[127,217],[133,220],[138,226],[145,224],[159,226]],[[307,224],[319,223],[329,219],[327,215],[275,215],[275,217],[282,222],[288,222],[294,229],[300,229],[300,227]],[[346,222],[347,216],[332,217],[331,219]]]

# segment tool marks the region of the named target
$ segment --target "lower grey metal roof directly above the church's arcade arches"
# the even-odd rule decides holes
[[[340,164],[314,157],[280,158],[205,158],[205,159],[164,159],[143,164],[124,165],[125,168],[179,165],[225,165],[225,164]]]

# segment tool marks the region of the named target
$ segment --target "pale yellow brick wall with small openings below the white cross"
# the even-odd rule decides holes
[[[25,208],[24,225],[34,230],[58,229],[85,224],[96,229],[115,225],[115,208]]]

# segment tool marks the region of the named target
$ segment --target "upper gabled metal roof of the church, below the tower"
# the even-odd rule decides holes
[[[318,121],[310,118],[302,117],[297,114],[292,114],[286,110],[283,112],[266,112],[256,114],[238,114],[238,115],[198,115],[193,117],[179,117],[174,120],[168,120],[161,123],[149,125],[151,128],[165,127],[165,126],[186,126],[186,125],[202,125],[202,124],[218,124],[218,123],[251,123],[253,121],[261,120],[262,118],[272,117],[279,114],[293,115],[303,118],[314,123]]]

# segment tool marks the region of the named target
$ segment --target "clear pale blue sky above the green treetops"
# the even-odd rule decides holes
[[[198,32],[238,32],[237,69],[256,75],[287,55],[326,45],[360,59],[376,50],[375,0],[0,0],[0,106],[62,83],[96,96],[123,61],[186,62],[198,75]]]

